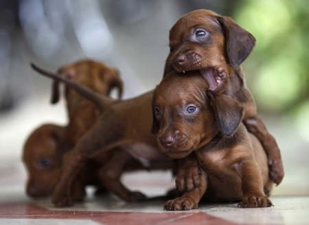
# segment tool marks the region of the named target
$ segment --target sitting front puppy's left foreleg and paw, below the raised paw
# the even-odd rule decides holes
[[[192,191],[184,193],[181,197],[177,197],[175,200],[169,200],[163,207],[163,210],[167,211],[179,211],[198,209],[198,202],[201,200],[207,189],[207,174],[202,169],[200,175],[200,185],[194,187]]]

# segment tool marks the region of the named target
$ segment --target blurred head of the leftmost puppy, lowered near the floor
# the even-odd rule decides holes
[[[60,175],[62,132],[62,127],[43,125],[25,143],[23,162],[29,175],[26,192],[30,197],[52,194]]]

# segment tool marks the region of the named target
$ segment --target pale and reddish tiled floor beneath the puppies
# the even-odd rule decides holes
[[[271,197],[275,206],[271,208],[201,204],[203,209],[167,212],[163,211],[165,200],[126,204],[113,195],[93,197],[91,188],[83,203],[55,208],[49,199],[30,200],[25,195],[21,164],[10,173],[0,171],[0,176],[0,224],[309,224],[309,195],[304,184],[298,186],[303,191],[293,195],[282,193],[289,182],[275,188]],[[172,175],[163,171],[126,173],[122,180],[130,189],[139,189],[149,197],[162,195],[174,185]]]

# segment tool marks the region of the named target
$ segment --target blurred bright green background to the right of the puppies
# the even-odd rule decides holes
[[[225,3],[257,40],[243,69],[258,111],[283,116],[309,140],[309,1]]]

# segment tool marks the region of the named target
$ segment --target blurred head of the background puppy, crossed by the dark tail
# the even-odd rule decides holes
[[[71,79],[87,86],[104,96],[109,96],[113,88],[118,89],[118,97],[122,97],[123,82],[117,69],[107,67],[96,61],[84,60],[73,65],[64,65],[58,69],[58,74],[63,78]],[[57,103],[59,94],[59,84],[54,81],[52,85],[52,103]],[[66,96],[76,96],[77,93],[67,88]]]

